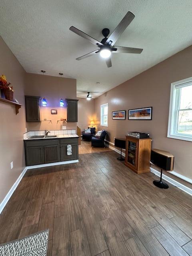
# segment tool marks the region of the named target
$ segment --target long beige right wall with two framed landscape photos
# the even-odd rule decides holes
[[[108,140],[124,138],[127,131],[149,132],[152,148],[170,151],[175,156],[174,171],[192,178],[192,142],[167,138],[170,84],[191,76],[192,46],[95,99],[97,120],[100,105],[109,104]],[[150,106],[152,120],[128,120],[128,109]],[[115,110],[126,110],[126,120],[112,120]]]

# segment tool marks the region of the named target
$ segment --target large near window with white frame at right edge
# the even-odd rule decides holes
[[[192,77],[171,84],[168,137],[192,141]]]

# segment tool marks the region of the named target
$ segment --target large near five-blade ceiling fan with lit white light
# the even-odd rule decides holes
[[[110,68],[112,66],[111,63],[111,53],[141,53],[143,49],[140,48],[131,48],[131,47],[124,47],[124,46],[115,46],[115,42],[118,40],[120,35],[124,32],[124,30],[127,28],[127,26],[132,22],[134,19],[134,14],[132,12],[128,12],[122,21],[118,24],[118,26],[115,28],[115,30],[112,32],[112,34],[107,38],[107,36],[110,33],[110,30],[108,28],[104,28],[102,30],[102,34],[104,38],[99,42],[98,40],[92,38],[91,36],[85,34],[81,30],[78,30],[74,26],[70,27],[70,30],[79,36],[82,36],[83,38],[89,40],[92,44],[98,46],[99,49],[94,50],[93,52],[90,52],[88,54],[85,54],[79,58],[76,58],[76,60],[82,60],[84,58],[90,57],[94,54],[100,53],[100,56],[102,58],[106,59],[107,67]]]

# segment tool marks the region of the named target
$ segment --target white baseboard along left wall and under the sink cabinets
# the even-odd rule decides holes
[[[0,214],[6,204],[8,203],[10,197],[12,196],[13,192],[16,190],[19,182],[22,180],[23,176],[25,175],[26,171],[28,169],[34,169],[34,168],[41,168],[41,167],[46,167],[46,166],[54,166],[54,165],[60,165],[60,164],[72,164],[72,163],[77,163],[79,160],[70,160],[70,161],[64,161],[64,162],[56,162],[56,163],[50,163],[50,164],[38,164],[38,165],[32,165],[32,166],[26,166],[16,182],[13,184],[12,188],[9,190],[9,192],[6,194],[5,198],[2,200],[0,203]]]

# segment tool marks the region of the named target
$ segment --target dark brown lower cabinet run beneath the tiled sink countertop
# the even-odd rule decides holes
[[[25,140],[26,166],[78,159],[78,138]],[[72,155],[67,155],[67,145]]]

